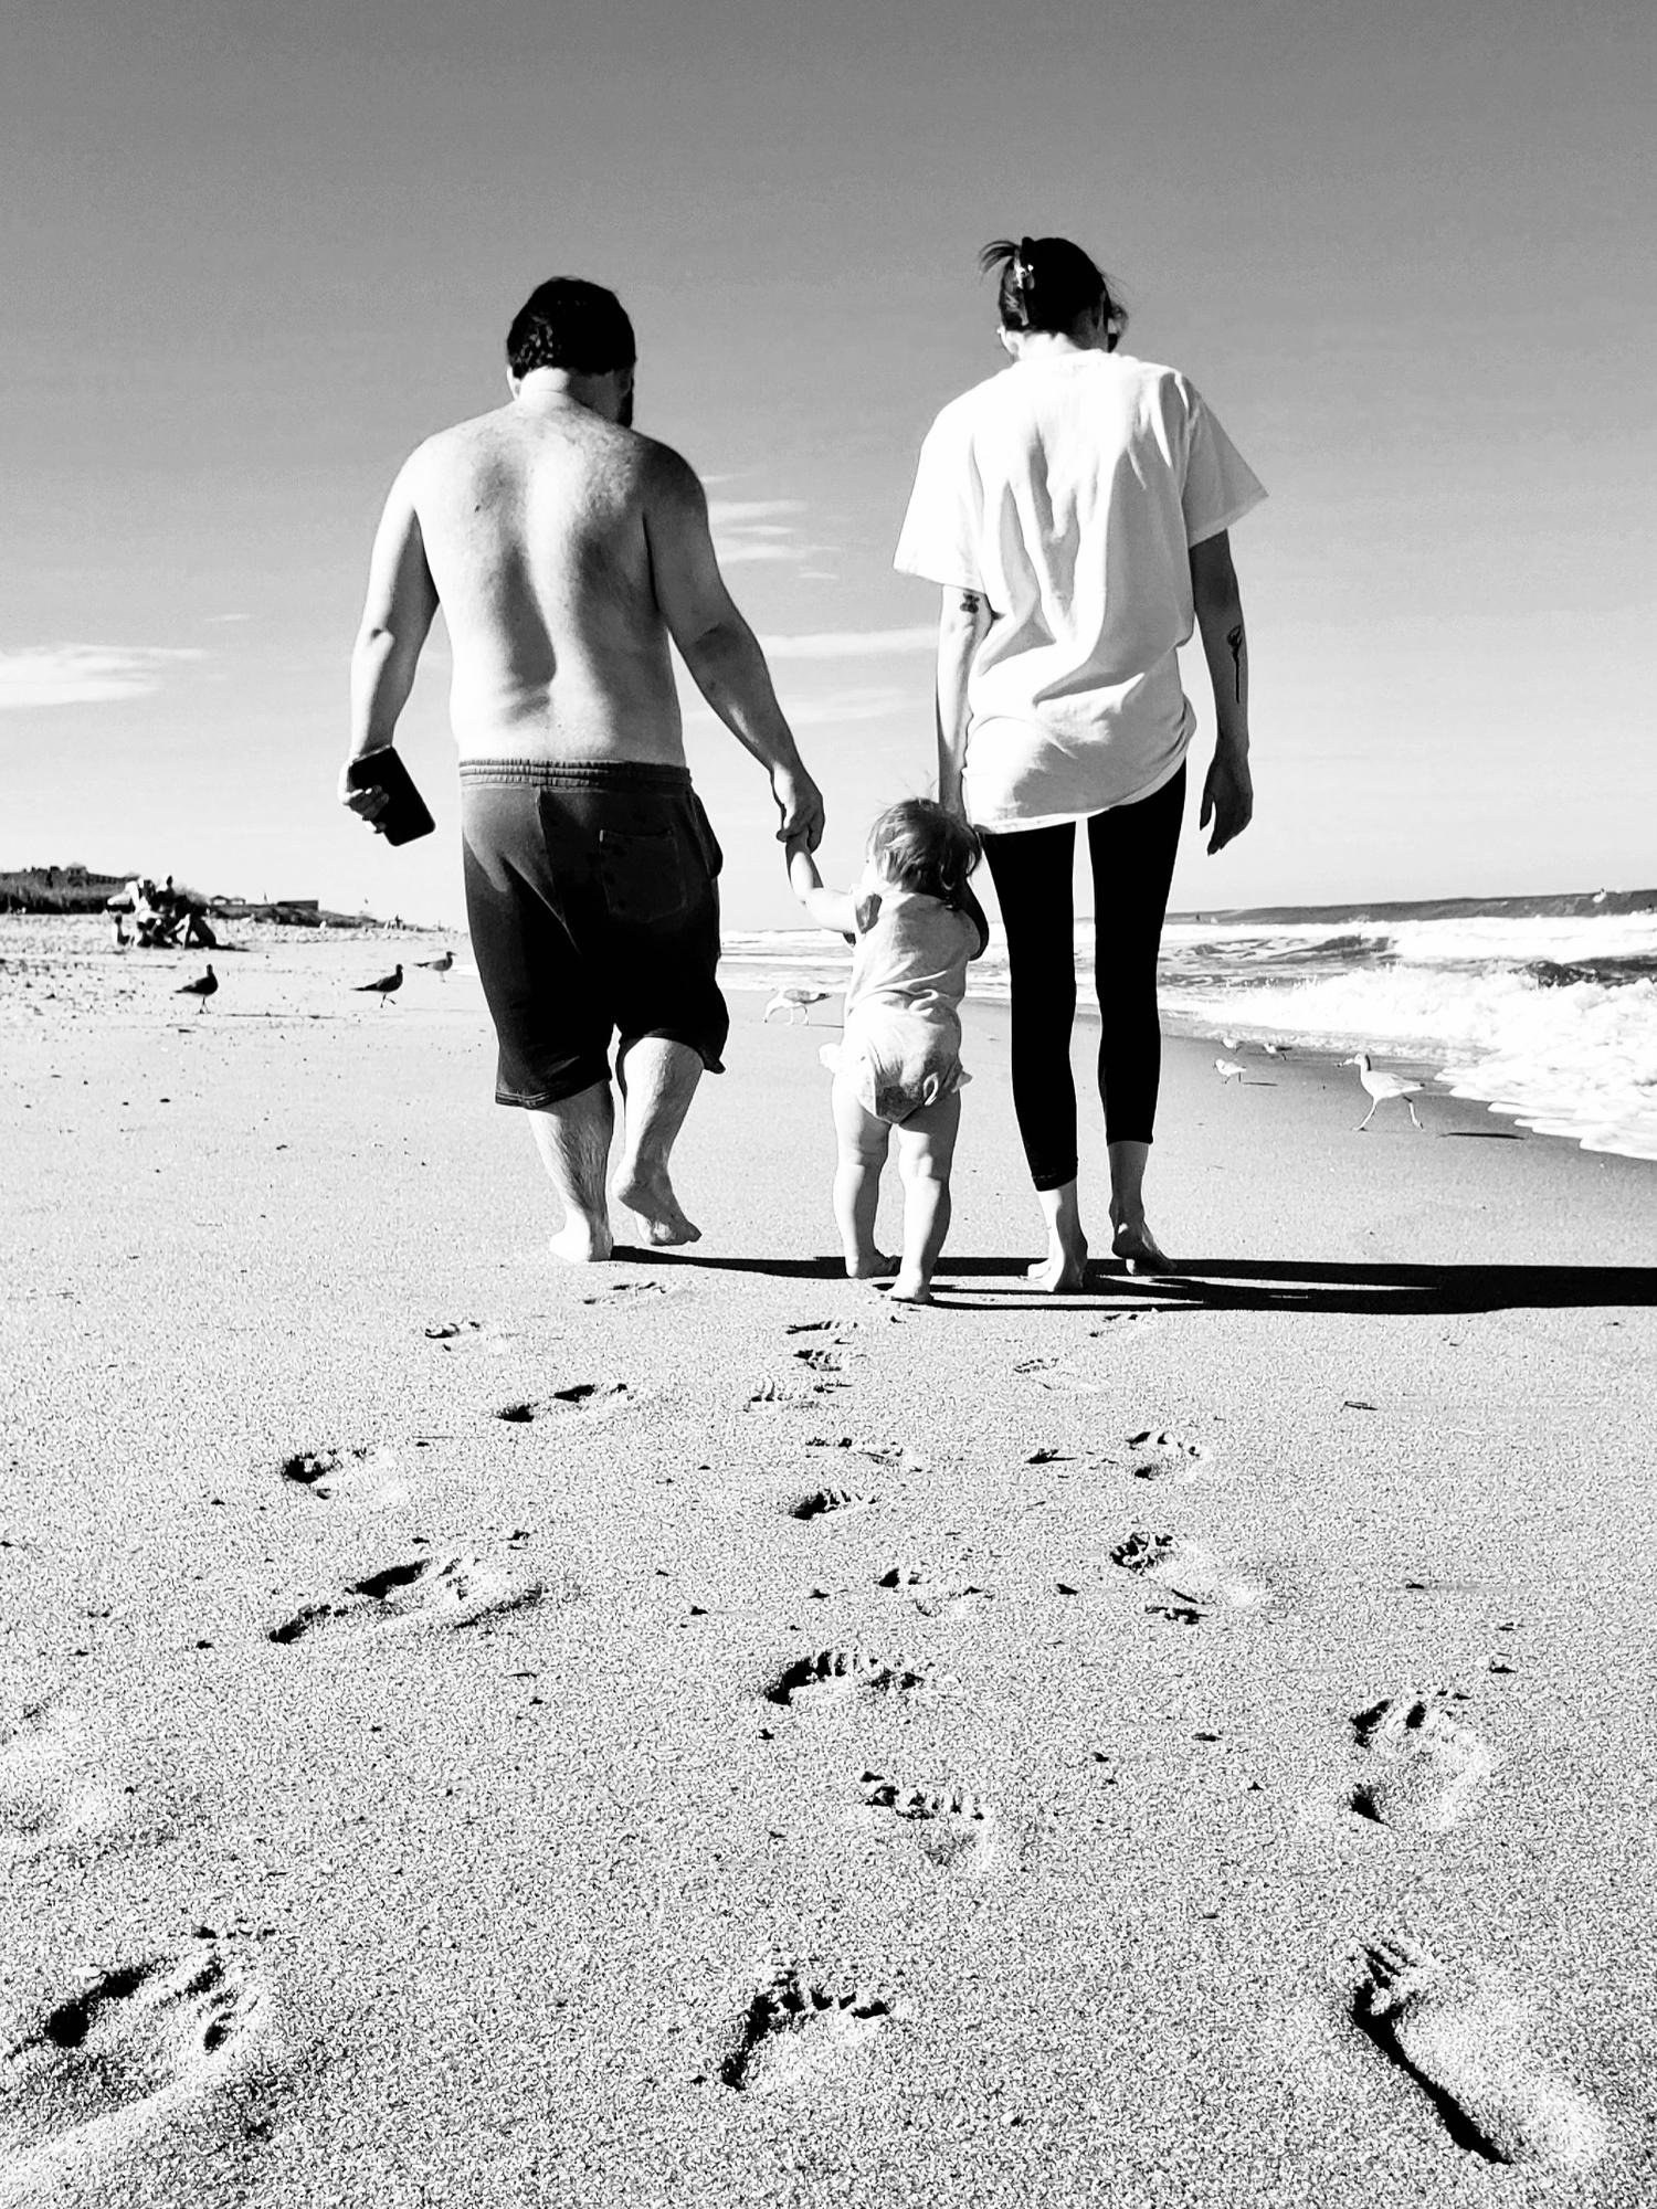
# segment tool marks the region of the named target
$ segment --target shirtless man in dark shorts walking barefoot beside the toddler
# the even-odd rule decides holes
[[[612,1246],[612,1034],[614,1193],[665,1246],[700,1233],[667,1162],[729,1027],[720,848],[685,767],[669,638],[771,775],[780,842],[815,848],[822,797],[720,577],[696,473],[632,429],[621,303],[555,276],[506,360],[510,402],[426,440],[391,486],[351,654],[351,760],[391,742],[442,605],[495,1096],[528,1111],[566,1208],[552,1250],[583,1264]],[[340,802],[373,820],[387,800],[342,775]]]

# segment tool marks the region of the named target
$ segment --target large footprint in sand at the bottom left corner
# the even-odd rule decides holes
[[[232,2076],[263,2012],[263,1988],[210,1942],[102,1973],[7,2048],[7,2176],[27,2178],[42,2152],[128,2145],[146,2105],[159,2114]]]

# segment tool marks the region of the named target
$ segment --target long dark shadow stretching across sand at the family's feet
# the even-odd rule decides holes
[[[835,1257],[703,1257],[696,1250],[616,1250],[627,1266],[689,1266],[703,1272],[764,1272],[775,1279],[840,1281]],[[1034,1290],[1027,1257],[948,1257],[937,1301],[954,1310],[1019,1312],[1438,1312],[1589,1310],[1657,1303],[1657,1266],[1339,1266],[1288,1259],[1184,1259],[1175,1275],[1129,1279],[1089,1268],[1074,1297]],[[994,1286],[994,1301],[965,1299],[959,1281]]]

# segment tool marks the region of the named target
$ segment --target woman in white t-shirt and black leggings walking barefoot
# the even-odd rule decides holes
[[[1169,1266],[1144,1219],[1162,1063],[1155,959],[1195,714],[1193,619],[1217,742],[1209,850],[1248,826],[1248,638],[1228,526],[1266,493],[1175,369],[1118,351],[1127,314],[1069,239],[985,245],[1012,367],[952,400],[921,446],[895,566],[943,588],[939,800],[983,837],[1007,930],[1012,1100],[1047,1222],[1030,1268],[1080,1288],[1072,866],[1094,875],[1098,1080],[1111,1248]]]

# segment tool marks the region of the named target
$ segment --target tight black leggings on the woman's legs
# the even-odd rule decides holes
[[[1133,806],[1094,813],[1094,979],[1098,983],[1098,1091],[1107,1142],[1149,1142],[1162,1076],[1155,954],[1169,910],[1184,813],[1184,767]],[[1072,868],[1076,824],[983,837],[1001,899],[1012,979],[1012,1109],[1036,1188],[1076,1180],[1076,1018]]]

